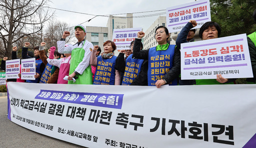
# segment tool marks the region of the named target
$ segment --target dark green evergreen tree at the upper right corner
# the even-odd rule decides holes
[[[211,20],[221,26],[221,37],[254,32],[255,3],[256,0],[210,0]]]

